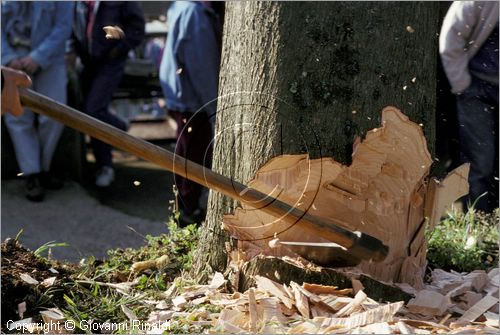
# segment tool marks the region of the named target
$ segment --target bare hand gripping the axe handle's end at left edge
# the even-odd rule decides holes
[[[11,113],[19,116],[23,107],[19,99],[19,87],[30,87],[30,77],[22,72],[2,66],[2,114]]]

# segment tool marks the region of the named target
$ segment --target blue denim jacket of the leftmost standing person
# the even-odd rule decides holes
[[[12,48],[7,42],[6,27],[16,12],[19,3],[2,3],[2,65],[26,56]],[[65,43],[71,34],[73,22],[71,1],[33,1],[31,24],[31,51],[29,55],[42,69],[52,64],[64,64]],[[24,52],[24,51],[23,51]]]

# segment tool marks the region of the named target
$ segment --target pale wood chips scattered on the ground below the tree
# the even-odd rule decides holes
[[[468,274],[435,270],[431,283],[423,290],[416,291],[408,284],[399,285],[414,296],[408,304],[375,301],[363,292],[361,284],[348,289],[295,282],[284,285],[262,276],[255,276],[255,282],[255,286],[244,293],[227,293],[230,284],[220,273],[216,273],[208,285],[182,286],[174,281],[163,292],[162,299],[142,301],[152,312],[147,320],[140,322],[160,327],[149,327],[142,333],[178,330],[179,325],[186,326],[186,330],[198,327],[197,332],[205,333],[499,332],[498,269]],[[134,289],[136,284],[137,281],[133,281],[106,286],[120,294],[136,296],[141,294]],[[124,322],[132,324],[137,319],[131,308],[125,305],[117,308],[127,315],[128,320]],[[65,320],[57,309],[44,311],[41,317],[46,322]],[[18,322],[29,323],[31,319]],[[64,329],[64,332],[71,331]]]

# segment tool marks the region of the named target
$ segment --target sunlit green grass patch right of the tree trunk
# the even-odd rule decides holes
[[[433,230],[427,231],[430,268],[470,272],[498,267],[498,209],[484,214],[470,207],[451,210]]]

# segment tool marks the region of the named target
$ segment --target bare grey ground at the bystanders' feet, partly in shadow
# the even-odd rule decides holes
[[[78,262],[104,257],[110,248],[143,245],[143,236],[166,232],[172,174],[120,153],[115,163],[116,181],[109,189],[95,187],[89,173],[81,184],[67,181],[62,190],[48,191],[41,203],[26,200],[22,180],[2,180],[2,241],[22,229],[20,241],[29,249],[66,242],[70,246],[53,248],[52,256]]]

